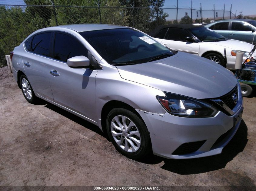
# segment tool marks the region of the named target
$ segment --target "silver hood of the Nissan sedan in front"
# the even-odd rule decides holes
[[[153,62],[116,67],[126,80],[197,99],[223,96],[237,84],[228,69],[182,52]]]

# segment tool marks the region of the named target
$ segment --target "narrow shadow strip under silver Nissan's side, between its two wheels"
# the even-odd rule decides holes
[[[74,121],[75,123],[78,123],[79,125],[108,139],[108,136],[105,133],[103,133],[98,126],[86,121],[85,119],[82,119],[81,117],[78,117],[78,116],[58,107],[58,106],[55,106],[52,103],[47,103],[47,105],[45,105],[45,107],[47,107],[50,110],[55,111],[56,113],[61,114],[62,116]],[[109,139],[108,139],[108,141],[109,141]]]

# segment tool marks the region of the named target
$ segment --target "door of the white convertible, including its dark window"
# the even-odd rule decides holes
[[[186,37],[192,37],[192,35],[185,29],[169,28],[165,34],[165,39],[162,40],[162,43],[171,49],[198,55],[199,43],[187,42],[185,41]]]

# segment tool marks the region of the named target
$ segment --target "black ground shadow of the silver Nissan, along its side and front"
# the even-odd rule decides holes
[[[63,110],[51,103],[45,105],[50,110],[55,111],[56,113],[61,114],[62,116],[78,123],[79,125],[90,129],[91,131],[101,135],[106,138],[108,141],[108,135],[102,132],[98,126],[87,122],[86,120]],[[241,124],[231,139],[231,141],[223,148],[222,153],[214,156],[204,157],[204,158],[195,158],[195,159],[181,159],[181,160],[172,160],[162,158],[153,154],[150,154],[147,158],[142,160],[136,160],[145,164],[159,164],[164,161],[164,165],[161,166],[162,169],[177,173],[177,174],[197,174],[205,173],[213,170],[218,170],[224,168],[229,161],[232,161],[233,158],[240,152],[242,152],[248,142],[247,139],[247,126],[244,121],[241,121]]]

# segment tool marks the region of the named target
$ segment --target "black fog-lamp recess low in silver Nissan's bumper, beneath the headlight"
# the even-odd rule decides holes
[[[183,155],[183,154],[193,153],[197,151],[205,142],[206,140],[184,143],[181,146],[179,146],[172,154]]]

